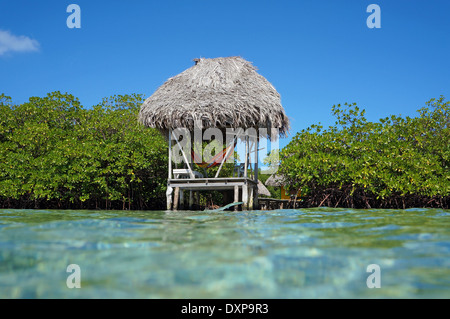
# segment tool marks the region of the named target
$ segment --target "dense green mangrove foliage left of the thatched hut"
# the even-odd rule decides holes
[[[141,95],[85,109],[53,92],[0,95],[0,207],[145,209],[164,205],[167,144],[137,122]]]

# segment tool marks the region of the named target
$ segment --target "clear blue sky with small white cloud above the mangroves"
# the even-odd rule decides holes
[[[80,29],[66,25],[72,3]],[[371,3],[380,29],[366,25]],[[344,102],[373,121],[414,116],[430,98],[450,97],[450,1],[0,2],[0,92],[16,103],[56,90],[85,107],[114,94],[150,96],[194,58],[234,55],[281,94],[291,136],[333,124],[331,106]]]

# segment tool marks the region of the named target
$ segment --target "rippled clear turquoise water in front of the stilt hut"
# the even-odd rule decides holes
[[[0,210],[0,298],[450,298],[449,229],[439,209]]]

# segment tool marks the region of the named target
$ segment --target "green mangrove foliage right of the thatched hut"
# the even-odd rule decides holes
[[[306,206],[449,207],[450,102],[431,99],[417,117],[378,122],[356,103],[334,105],[334,126],[299,132],[279,173]]]

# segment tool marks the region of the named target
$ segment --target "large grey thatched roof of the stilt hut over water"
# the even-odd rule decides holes
[[[250,62],[240,57],[195,61],[145,100],[139,113],[144,125],[192,131],[199,122],[203,129],[278,128],[281,136],[287,134],[280,95]]]

